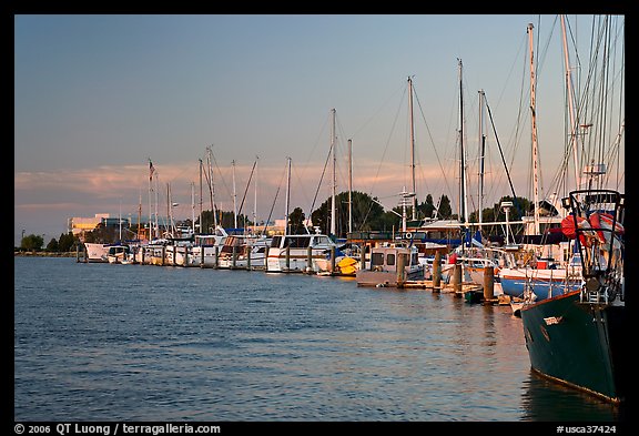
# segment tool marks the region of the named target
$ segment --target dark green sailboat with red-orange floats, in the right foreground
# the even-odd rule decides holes
[[[610,17],[601,20],[604,38],[609,38],[615,22]],[[564,17],[561,23],[565,29]],[[606,53],[611,40],[601,41]],[[619,71],[612,70],[611,58],[607,55],[600,67],[602,78],[623,74],[622,67]],[[612,125],[609,119],[612,110],[607,99],[613,94],[605,80],[599,84],[589,80],[588,85],[592,90],[606,89],[605,93],[597,94],[602,98],[597,108],[588,112],[588,116],[597,119],[592,124],[604,132]],[[622,113],[619,113],[618,121],[621,132],[625,123]],[[571,132],[576,131],[579,121],[575,122],[570,125]],[[589,146],[579,150],[588,160],[590,156],[608,156],[611,161],[615,153],[609,152],[618,145],[620,136],[612,145],[607,144],[606,138],[605,134],[590,138]],[[607,166],[605,163],[588,162],[585,186],[572,190],[562,199],[562,205],[569,212],[562,222],[562,232],[571,239],[580,255],[582,284],[577,290],[524,304],[521,321],[530,366],[536,374],[606,402],[620,404],[626,402],[632,384],[631,346],[627,341],[631,329],[627,325],[625,304],[626,197],[617,189],[605,187]],[[579,178],[576,182],[580,184]]]

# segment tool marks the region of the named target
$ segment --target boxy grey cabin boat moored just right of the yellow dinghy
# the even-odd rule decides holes
[[[400,243],[371,247],[369,266],[355,274],[357,286],[393,287],[406,281],[424,280],[424,265],[418,253],[415,245]]]

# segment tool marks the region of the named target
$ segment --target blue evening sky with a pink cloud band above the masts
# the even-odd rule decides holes
[[[592,17],[567,19],[582,83]],[[510,195],[505,168],[530,199],[529,23],[544,196],[567,136],[558,16],[16,14],[14,243],[72,216],[148,216],[150,162],[161,214],[169,191],[175,219],[199,213],[210,159],[217,207],[282,219],[288,191],[310,215],[332,194],[333,144],[337,193],[352,180],[397,206],[414,165],[417,201],[457,212],[462,149],[477,209],[484,132],[484,206]]]

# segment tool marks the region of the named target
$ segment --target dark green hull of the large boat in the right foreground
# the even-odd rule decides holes
[[[580,302],[580,292],[525,304],[520,311],[531,368],[611,403],[625,399],[625,305]]]

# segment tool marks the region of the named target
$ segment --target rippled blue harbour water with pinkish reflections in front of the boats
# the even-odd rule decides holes
[[[14,258],[16,420],[615,422],[508,306],[298,274]]]

